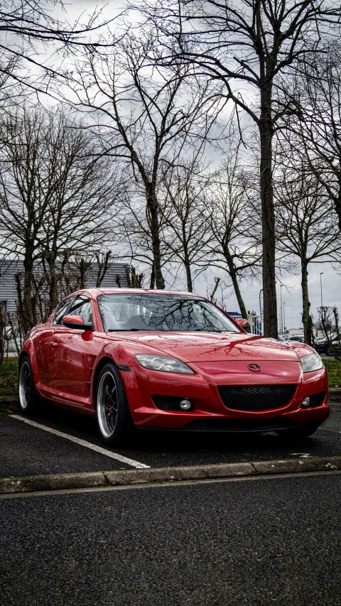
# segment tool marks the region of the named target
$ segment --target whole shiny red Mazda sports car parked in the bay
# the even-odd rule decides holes
[[[77,291],[26,336],[21,410],[38,396],[96,416],[108,444],[134,428],[312,434],[330,410],[320,356],[245,323],[193,293]]]

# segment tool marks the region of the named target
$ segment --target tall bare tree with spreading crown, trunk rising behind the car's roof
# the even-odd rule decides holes
[[[208,82],[187,85],[188,67],[171,69],[153,60],[157,39],[127,34],[112,53],[87,53],[70,86],[78,107],[97,120],[104,151],[131,163],[136,184],[146,200],[153,275],[164,288],[162,273],[158,183],[161,166],[173,162],[212,124],[216,97]]]

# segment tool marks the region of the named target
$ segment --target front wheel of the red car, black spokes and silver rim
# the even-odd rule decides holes
[[[105,444],[122,444],[134,432],[122,379],[112,362],[105,364],[99,373],[95,408],[97,426]]]

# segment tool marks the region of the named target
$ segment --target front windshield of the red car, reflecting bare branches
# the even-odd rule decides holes
[[[104,330],[240,332],[209,301],[183,295],[110,294],[97,298]]]

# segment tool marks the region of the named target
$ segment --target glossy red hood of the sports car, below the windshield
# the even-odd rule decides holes
[[[153,347],[158,350],[156,354],[166,354],[183,362],[213,362],[227,359],[298,362],[295,346],[300,345],[302,348],[301,343],[289,345],[276,339],[244,333],[134,332],[119,336],[122,341]],[[142,352],[146,352],[144,347],[141,347]],[[310,349],[307,353],[310,353]]]

